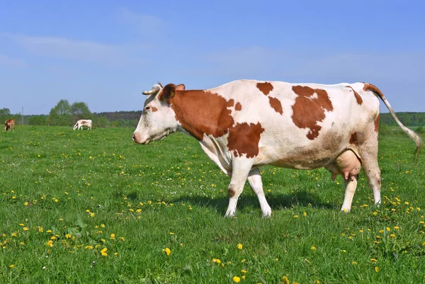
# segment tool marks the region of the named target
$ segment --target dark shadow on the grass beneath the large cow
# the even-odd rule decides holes
[[[272,210],[280,210],[283,208],[291,208],[294,206],[312,206],[312,208],[325,208],[331,209],[334,208],[334,205],[329,203],[322,203],[317,195],[314,193],[307,193],[305,191],[300,191],[297,193],[291,194],[278,194],[272,195],[267,198],[268,205],[270,205]],[[208,206],[210,208],[215,208],[218,211],[226,212],[227,205],[229,203],[229,198],[222,196],[219,198],[209,198],[206,196],[182,196],[174,200],[170,200],[170,203],[190,203],[197,204],[200,207]],[[239,197],[237,202],[237,210],[244,210],[244,208],[258,208],[260,210],[260,203],[256,195],[244,195],[242,194]]]

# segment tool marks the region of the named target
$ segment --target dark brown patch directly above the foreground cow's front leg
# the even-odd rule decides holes
[[[227,147],[233,152],[234,157],[253,158],[259,154],[259,141],[264,128],[260,123],[237,123],[229,130]]]

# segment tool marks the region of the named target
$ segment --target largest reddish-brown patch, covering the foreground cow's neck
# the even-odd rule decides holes
[[[204,134],[213,137],[225,135],[234,123],[229,109],[234,101],[226,101],[217,93],[201,90],[176,91],[170,103],[176,113],[176,120],[198,140],[202,140]]]

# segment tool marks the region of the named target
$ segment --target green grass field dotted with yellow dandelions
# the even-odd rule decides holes
[[[198,142],[133,129],[0,133],[0,283],[425,283],[425,153],[380,137],[382,205],[324,169],[263,167],[272,217]]]

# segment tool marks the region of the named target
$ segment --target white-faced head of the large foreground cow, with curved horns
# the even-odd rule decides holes
[[[164,87],[161,84],[155,84],[152,89],[143,92],[148,97],[139,124],[132,135],[134,142],[148,144],[176,132],[179,124],[176,113],[171,107],[171,98],[176,91],[184,91],[184,89],[183,84],[177,86],[168,84]]]

